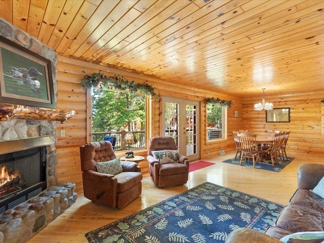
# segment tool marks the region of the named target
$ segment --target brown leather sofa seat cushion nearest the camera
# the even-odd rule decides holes
[[[291,231],[324,231],[324,213],[299,205],[287,205],[281,211],[275,225]]]

